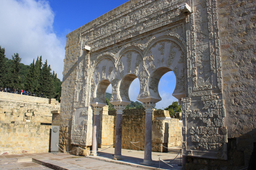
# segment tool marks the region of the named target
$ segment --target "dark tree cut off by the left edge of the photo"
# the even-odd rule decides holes
[[[0,87],[6,86],[5,49],[0,46]]]

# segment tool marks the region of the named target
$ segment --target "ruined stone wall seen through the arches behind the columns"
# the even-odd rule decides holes
[[[101,148],[106,148],[106,146],[103,145],[112,145],[115,143],[115,111],[110,111],[109,114],[110,115],[102,115],[102,128],[100,125],[99,131],[99,147]],[[168,111],[154,111],[153,114],[153,151],[163,152],[167,151],[167,149],[164,147],[181,146],[182,122],[180,122],[180,120],[177,118],[170,118]],[[143,150],[142,148],[144,148],[145,145],[144,138],[144,109],[124,110],[122,126],[122,148]],[[133,144],[131,142],[133,142]]]

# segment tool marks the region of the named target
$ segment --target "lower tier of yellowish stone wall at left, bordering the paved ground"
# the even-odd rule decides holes
[[[0,123],[0,155],[49,152],[50,131],[40,123]]]

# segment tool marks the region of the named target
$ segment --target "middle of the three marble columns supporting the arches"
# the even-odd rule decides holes
[[[122,159],[122,121],[124,105],[115,105],[116,109],[116,143],[115,143],[115,160]]]

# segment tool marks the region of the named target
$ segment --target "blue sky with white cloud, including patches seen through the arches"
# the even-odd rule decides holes
[[[21,62],[27,65],[42,55],[43,61],[47,60],[62,80],[66,35],[125,2],[127,0],[1,0],[0,46],[5,48],[7,58],[19,53]],[[134,80],[129,90],[131,100],[136,100],[139,87],[138,79]],[[162,77],[158,88],[162,101],[156,108],[162,109],[177,101],[171,95],[175,88],[173,72]]]

